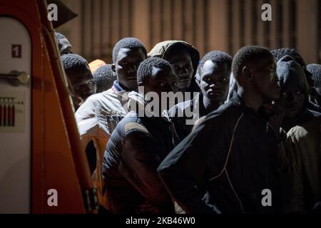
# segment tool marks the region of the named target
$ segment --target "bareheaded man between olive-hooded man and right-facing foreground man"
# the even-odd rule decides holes
[[[170,108],[168,115],[175,125],[180,140],[193,129],[193,125],[205,115],[218,109],[228,96],[232,58],[223,51],[210,51],[198,66],[198,83],[201,93],[193,100]]]

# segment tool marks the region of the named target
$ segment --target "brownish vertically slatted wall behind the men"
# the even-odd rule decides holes
[[[148,51],[167,39],[234,55],[245,45],[296,48],[321,63],[321,0],[64,0],[79,16],[61,26],[73,51],[111,63],[115,43],[135,36]],[[262,21],[263,4],[272,21]]]

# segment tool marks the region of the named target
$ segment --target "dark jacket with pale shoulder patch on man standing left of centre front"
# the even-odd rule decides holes
[[[126,115],[108,141],[103,159],[104,191],[113,213],[135,213],[152,204],[173,212],[157,167],[173,149],[173,124],[166,118]]]

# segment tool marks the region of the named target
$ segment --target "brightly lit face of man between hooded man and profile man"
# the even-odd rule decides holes
[[[228,64],[206,61],[200,68],[200,90],[213,103],[222,103],[228,96],[230,68]]]

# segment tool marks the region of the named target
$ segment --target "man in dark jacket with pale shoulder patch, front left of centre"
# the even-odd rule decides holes
[[[148,93],[175,92],[170,63],[148,58],[138,68],[139,93],[132,92],[126,115],[108,141],[103,160],[105,194],[113,213],[173,212],[173,204],[158,177],[157,167],[173,149],[173,125],[148,108]],[[143,88],[143,90],[142,90]],[[143,113],[143,115],[141,115]],[[149,117],[147,117],[149,116]]]

